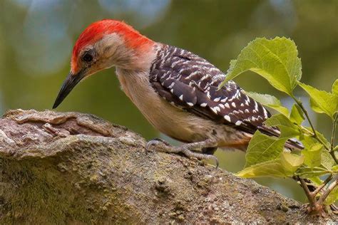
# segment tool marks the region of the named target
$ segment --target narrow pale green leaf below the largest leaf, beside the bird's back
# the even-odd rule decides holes
[[[265,105],[274,110],[277,110],[283,115],[289,115],[289,110],[285,108],[284,106],[282,106],[282,103],[280,103],[280,100],[278,100],[275,96],[259,94],[259,93],[254,93],[254,92],[245,92],[245,93],[249,95],[251,98],[253,98],[255,101],[257,101],[258,103],[262,103],[262,105]]]

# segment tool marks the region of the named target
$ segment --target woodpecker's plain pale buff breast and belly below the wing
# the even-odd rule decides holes
[[[155,93],[146,75],[117,70],[118,80],[126,95],[145,118],[160,132],[182,142],[198,142],[215,138],[218,146],[243,140],[244,132],[217,124],[171,105]]]

